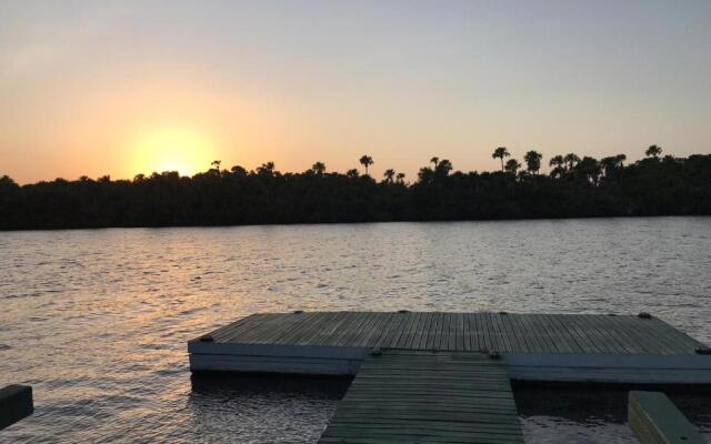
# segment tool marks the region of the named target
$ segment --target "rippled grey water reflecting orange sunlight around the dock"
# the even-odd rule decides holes
[[[347,384],[192,384],[186,342],[260,311],[409,309],[649,311],[711,343],[709,276],[709,218],[4,232],[0,384],[37,412],[0,442],[314,442]],[[675,401],[711,435],[708,397]],[[531,443],[633,442],[623,393],[517,402]]]

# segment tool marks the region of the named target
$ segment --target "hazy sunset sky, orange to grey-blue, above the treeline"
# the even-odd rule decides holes
[[[0,175],[711,153],[711,1],[0,2]]]

